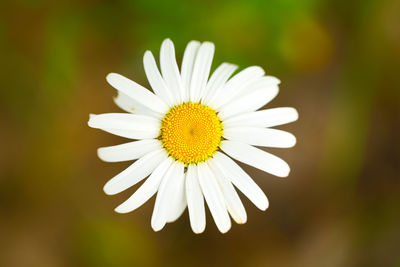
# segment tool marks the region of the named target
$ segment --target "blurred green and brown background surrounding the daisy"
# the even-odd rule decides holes
[[[0,2],[0,266],[400,266],[400,1]],[[155,233],[154,198],[113,209],[137,187],[102,187],[129,163],[87,126],[118,112],[105,75],[148,86],[145,50],[164,38],[178,62],[192,39],[224,61],[282,80],[269,107],[293,106],[292,172],[245,169],[270,200],[242,197],[245,225],[192,233],[187,211]]]

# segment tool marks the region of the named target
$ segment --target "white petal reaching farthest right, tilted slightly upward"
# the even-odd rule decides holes
[[[224,120],[224,129],[236,126],[274,127],[296,121],[299,114],[294,108],[271,108],[233,116]]]

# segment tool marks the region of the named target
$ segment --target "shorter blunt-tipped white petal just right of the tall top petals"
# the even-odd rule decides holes
[[[208,105],[210,99],[212,99],[214,95],[219,94],[218,91],[224,88],[226,81],[237,68],[238,66],[229,63],[222,63],[219,65],[207,83],[201,102]]]

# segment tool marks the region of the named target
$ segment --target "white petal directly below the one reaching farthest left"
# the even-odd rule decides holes
[[[162,145],[159,140],[145,139],[116,146],[100,147],[97,150],[97,155],[107,162],[119,162],[138,159],[151,151],[161,148]]]

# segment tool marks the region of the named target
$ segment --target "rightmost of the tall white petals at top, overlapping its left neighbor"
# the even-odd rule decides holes
[[[192,102],[200,101],[210,75],[213,56],[214,44],[210,42],[202,43],[196,55],[190,81],[190,101]]]

